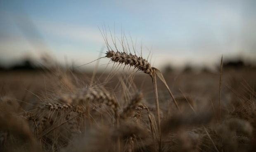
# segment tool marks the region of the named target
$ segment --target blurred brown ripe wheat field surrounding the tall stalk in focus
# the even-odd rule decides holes
[[[161,136],[151,79],[109,75],[1,72],[1,151],[255,151],[254,69],[223,68],[221,117],[218,72],[164,73],[180,111],[158,83]]]

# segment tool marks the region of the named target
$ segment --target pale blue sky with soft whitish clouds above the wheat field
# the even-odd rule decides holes
[[[255,0],[0,0],[0,62],[47,53],[61,63],[86,64],[107,51],[103,30],[117,43],[126,35],[155,67],[211,66],[221,55],[253,60],[255,8]]]

